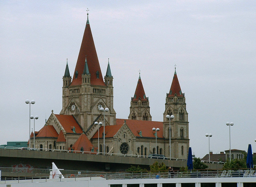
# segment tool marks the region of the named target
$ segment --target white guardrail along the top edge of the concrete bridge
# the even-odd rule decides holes
[[[49,151],[49,152],[58,152],[58,153],[80,153],[80,154],[95,154],[95,155],[104,155],[101,152],[89,152],[89,151],[75,151],[75,150],[63,150],[63,149],[43,149],[43,148],[28,148],[28,147],[12,147],[12,146],[0,146],[0,149],[13,149],[13,150],[21,150],[21,151]],[[105,153],[108,156],[122,156],[122,157],[134,157],[134,158],[150,158],[150,159],[158,159],[158,160],[171,160],[171,161],[188,161],[188,159],[183,158],[171,158],[170,157],[156,157],[156,156],[146,156],[146,155],[135,155],[135,154],[121,154],[121,153]],[[205,163],[213,163],[213,164],[224,164],[224,162],[216,162],[216,161],[202,161]]]

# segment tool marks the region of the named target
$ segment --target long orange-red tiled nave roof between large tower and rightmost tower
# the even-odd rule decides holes
[[[131,120],[131,119],[116,119],[116,125],[105,126],[105,138],[113,138],[116,132],[123,126],[124,120],[132,133],[136,137],[140,137],[139,132],[141,131],[142,137],[155,138],[152,128],[159,128],[160,131],[157,132],[158,138],[163,137],[163,122],[157,121],[142,121],[142,120]],[[103,127],[100,127],[99,135],[102,138]],[[93,135],[92,138],[98,138],[98,131]]]

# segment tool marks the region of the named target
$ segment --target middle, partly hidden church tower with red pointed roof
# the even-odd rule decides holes
[[[130,115],[128,116],[128,119],[152,120],[148,97],[146,97],[140,75],[134,96],[131,98]]]

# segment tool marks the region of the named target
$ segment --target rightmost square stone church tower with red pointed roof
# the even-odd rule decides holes
[[[176,65],[175,65],[176,66]],[[189,148],[188,138],[188,112],[186,110],[185,94],[181,92],[180,83],[176,73],[172,79],[169,93],[166,94],[164,111],[164,138],[169,139],[169,119],[166,115],[173,115],[171,120],[171,157],[187,158]],[[165,156],[170,156],[169,141],[165,143]]]

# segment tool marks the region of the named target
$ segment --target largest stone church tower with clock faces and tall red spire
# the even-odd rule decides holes
[[[108,61],[105,82],[103,81],[88,13],[73,79],[71,81],[68,62],[62,79],[60,114],[73,115],[89,139],[97,131],[94,122],[103,121],[101,107],[109,108],[109,112],[105,113],[105,125],[116,123],[116,112],[113,108],[113,76]]]

